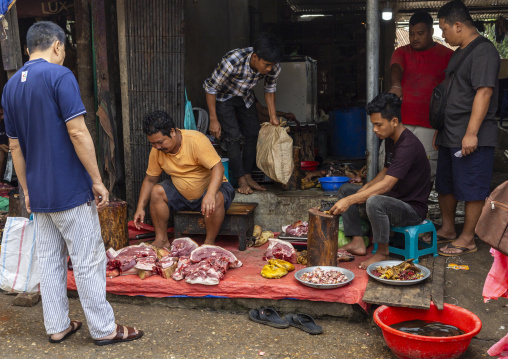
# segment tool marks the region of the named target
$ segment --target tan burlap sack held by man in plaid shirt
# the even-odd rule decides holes
[[[259,131],[256,164],[268,177],[286,184],[293,173],[293,139],[289,128],[274,126],[269,122]]]

